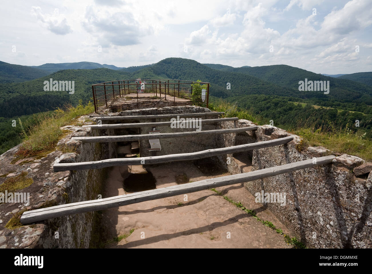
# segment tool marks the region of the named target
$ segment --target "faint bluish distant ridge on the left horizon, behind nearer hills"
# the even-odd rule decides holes
[[[113,70],[119,70],[119,69],[125,69],[125,67],[117,67],[114,65],[108,65],[108,64],[99,64],[94,62],[76,62],[76,63],[47,63],[42,64],[40,66],[29,66],[36,69],[43,69],[48,71],[49,73],[57,72],[59,70],[63,69],[100,69],[102,67],[105,67],[106,69],[113,69]]]

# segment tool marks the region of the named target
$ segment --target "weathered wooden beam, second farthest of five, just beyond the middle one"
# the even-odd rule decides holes
[[[186,118],[189,119],[189,118]],[[190,118],[190,119],[198,119],[198,118]],[[219,118],[219,119],[205,119],[200,120],[202,124],[207,123],[218,123],[218,122],[227,122],[227,121],[237,121],[239,120],[238,117],[231,117],[231,118]],[[153,127],[153,126],[170,126],[172,123],[176,123],[179,125],[182,122],[153,122],[153,123],[130,123],[130,124],[105,124],[105,125],[84,125],[83,127],[92,127],[92,129],[126,129],[126,128],[133,128],[133,127]],[[190,122],[186,122],[190,123]]]

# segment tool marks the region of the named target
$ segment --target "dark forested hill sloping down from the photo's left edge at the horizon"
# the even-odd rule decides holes
[[[9,64],[0,61],[0,83],[23,82],[36,79],[49,72],[33,67]]]

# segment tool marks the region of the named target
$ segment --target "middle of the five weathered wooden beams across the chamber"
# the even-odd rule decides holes
[[[71,139],[79,140],[83,143],[124,142],[124,141],[139,141],[139,140],[149,140],[149,139],[202,136],[202,135],[209,135],[209,134],[226,134],[226,133],[251,131],[251,130],[256,130],[256,129],[257,129],[257,126],[250,126],[250,127],[240,127],[236,129],[213,129],[213,130],[203,130],[203,131],[119,135],[119,136],[72,137]]]

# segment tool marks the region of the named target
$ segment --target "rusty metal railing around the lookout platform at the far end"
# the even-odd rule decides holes
[[[96,113],[180,105],[208,107],[209,101],[209,83],[186,80],[116,80],[92,85],[92,92]]]

